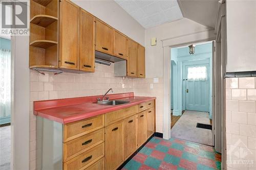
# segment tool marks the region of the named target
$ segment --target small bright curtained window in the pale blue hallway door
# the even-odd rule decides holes
[[[187,68],[188,81],[207,81],[206,66],[196,66]]]

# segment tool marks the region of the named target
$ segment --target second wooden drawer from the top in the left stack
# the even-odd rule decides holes
[[[63,143],[63,161],[68,160],[78,156],[79,154],[90,150],[96,145],[104,142],[104,129],[97,130],[95,132],[83,135],[66,143]]]

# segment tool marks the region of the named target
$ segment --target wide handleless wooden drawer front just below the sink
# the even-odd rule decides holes
[[[105,114],[105,124],[106,126],[118,122],[119,120],[128,117],[130,115],[136,114],[136,106],[127,107],[121,110],[109,112]]]

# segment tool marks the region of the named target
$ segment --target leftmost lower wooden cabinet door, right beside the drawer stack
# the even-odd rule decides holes
[[[116,169],[123,162],[123,122],[105,128],[105,169]]]

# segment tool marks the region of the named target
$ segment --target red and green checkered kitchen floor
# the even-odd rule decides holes
[[[153,137],[122,169],[221,169],[221,154],[205,145]]]

